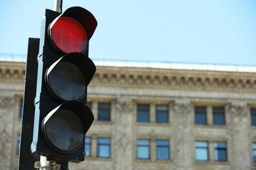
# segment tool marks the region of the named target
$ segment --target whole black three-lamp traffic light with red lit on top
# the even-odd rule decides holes
[[[87,86],[96,67],[88,57],[96,19],[86,9],[60,14],[46,9],[39,43],[32,154],[37,160],[80,162],[85,133],[94,116],[87,107]]]

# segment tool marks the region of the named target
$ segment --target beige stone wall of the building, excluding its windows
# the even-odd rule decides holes
[[[0,62],[0,169],[16,169],[16,137],[25,63]],[[91,157],[70,169],[253,169],[256,73],[98,66],[88,88],[95,122]],[[98,103],[111,103],[111,121],[100,122]],[[150,105],[150,123],[137,122],[137,104]],[[156,124],[156,105],[169,106],[169,124]],[[194,107],[207,107],[206,126],[194,124]],[[213,126],[212,107],[225,108],[226,126]],[[96,139],[111,138],[111,158],[97,158]],[[150,139],[150,160],[137,160],[137,139]],[[156,159],[156,140],[170,141],[171,160]],[[209,143],[209,161],[195,161],[195,141]],[[216,141],[226,141],[227,162],[214,161]]]

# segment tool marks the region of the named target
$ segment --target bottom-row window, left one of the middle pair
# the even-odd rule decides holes
[[[149,159],[150,158],[150,141],[137,140],[137,158]]]

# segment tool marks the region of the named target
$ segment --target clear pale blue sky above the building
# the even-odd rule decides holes
[[[26,54],[54,0],[0,2],[0,54]],[[81,6],[98,27],[89,57],[256,66],[255,0],[63,0]],[[0,55],[1,57],[1,55]]]

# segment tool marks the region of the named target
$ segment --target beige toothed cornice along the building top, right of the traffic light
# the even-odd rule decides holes
[[[256,73],[98,67],[91,83],[98,86],[104,84],[104,86],[255,92]]]

